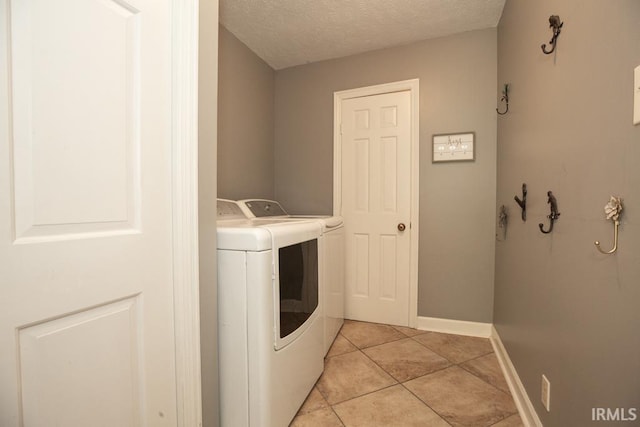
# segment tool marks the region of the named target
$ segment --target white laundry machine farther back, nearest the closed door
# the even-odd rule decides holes
[[[258,219],[314,219],[323,229],[324,253],[320,289],[324,300],[324,353],[329,351],[344,323],[345,235],[341,216],[289,215],[274,200],[245,199],[238,205],[247,218]]]

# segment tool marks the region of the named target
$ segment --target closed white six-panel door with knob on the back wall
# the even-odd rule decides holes
[[[342,101],[348,319],[409,324],[411,94]]]

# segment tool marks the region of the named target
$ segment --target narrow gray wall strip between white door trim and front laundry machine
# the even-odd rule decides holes
[[[198,238],[203,427],[219,425],[218,294],[216,282],[216,169],[218,0],[200,2],[198,52]]]

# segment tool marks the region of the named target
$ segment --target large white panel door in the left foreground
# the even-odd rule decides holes
[[[0,425],[175,426],[170,4],[0,0]]]

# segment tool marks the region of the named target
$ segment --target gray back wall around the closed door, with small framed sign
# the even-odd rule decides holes
[[[276,73],[275,195],[331,213],[333,93],[420,79],[420,316],[491,322],[497,31],[488,29]],[[476,161],[431,163],[432,135],[475,131]]]

